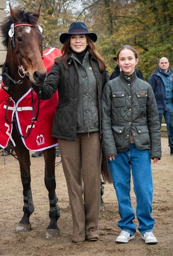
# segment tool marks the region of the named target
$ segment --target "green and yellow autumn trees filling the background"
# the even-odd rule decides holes
[[[171,0],[18,0],[20,7],[34,11],[41,2],[43,48],[61,48],[59,35],[73,21],[83,21],[98,35],[99,53],[112,73],[118,49],[124,44],[139,53],[138,68],[148,81],[163,56],[172,61],[173,4]],[[10,2],[10,3],[11,3]]]

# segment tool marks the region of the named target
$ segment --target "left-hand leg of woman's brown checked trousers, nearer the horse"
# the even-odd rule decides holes
[[[81,184],[81,146],[80,134],[77,141],[58,139],[62,166],[69,193],[73,232],[72,241],[85,241],[85,209]]]

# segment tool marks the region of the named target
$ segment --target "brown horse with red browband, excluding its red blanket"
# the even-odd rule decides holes
[[[8,67],[8,74],[5,74],[11,80],[11,87],[8,88],[7,93],[9,95],[9,101],[13,100],[16,103],[28,90],[31,89],[32,91],[32,84],[40,85],[44,83],[47,77],[47,70],[42,61],[42,41],[44,37],[40,31],[41,27],[38,25],[41,4],[36,12],[13,9],[10,4],[9,7],[10,16],[4,19],[0,29],[3,37],[2,43],[7,49],[5,62]],[[17,110],[16,108],[15,110],[20,111],[21,109],[18,108]],[[41,109],[41,111],[43,110]],[[31,133],[35,122],[39,122],[37,118],[39,116],[38,113],[39,104],[36,117],[33,113],[31,125],[29,126]],[[7,119],[6,121],[16,124],[16,115],[14,114],[11,122]],[[21,131],[19,131],[18,125],[13,125],[11,140],[14,141],[14,149],[19,160],[24,201],[23,217],[18,223],[16,230],[18,232],[27,232],[31,230],[30,216],[34,212],[34,204],[31,191],[30,154],[21,137]],[[26,137],[24,137],[24,139],[26,139]],[[60,217],[60,208],[55,193],[55,147],[46,148],[43,150],[43,155],[45,161],[44,182],[48,191],[50,206],[50,223],[45,236],[46,238],[53,238],[58,237],[60,231],[57,226],[57,220]]]

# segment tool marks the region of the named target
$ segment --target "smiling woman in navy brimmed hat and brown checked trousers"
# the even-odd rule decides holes
[[[97,240],[100,212],[101,94],[108,81],[98,54],[95,33],[83,22],[73,22],[60,35],[62,56],[55,59],[41,99],[58,89],[59,102],[52,136],[58,138],[73,220],[71,240]],[[38,93],[38,88],[33,86]],[[83,196],[82,184],[83,180]]]

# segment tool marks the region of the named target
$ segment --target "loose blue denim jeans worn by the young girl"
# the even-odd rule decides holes
[[[126,151],[118,151],[115,160],[108,160],[121,220],[118,226],[130,234],[136,232],[133,222],[135,213],[131,205],[130,180],[133,177],[134,192],[137,200],[136,215],[138,230],[143,235],[153,230],[154,219],[151,217],[153,201],[153,178],[149,149],[138,149],[130,144]]]

